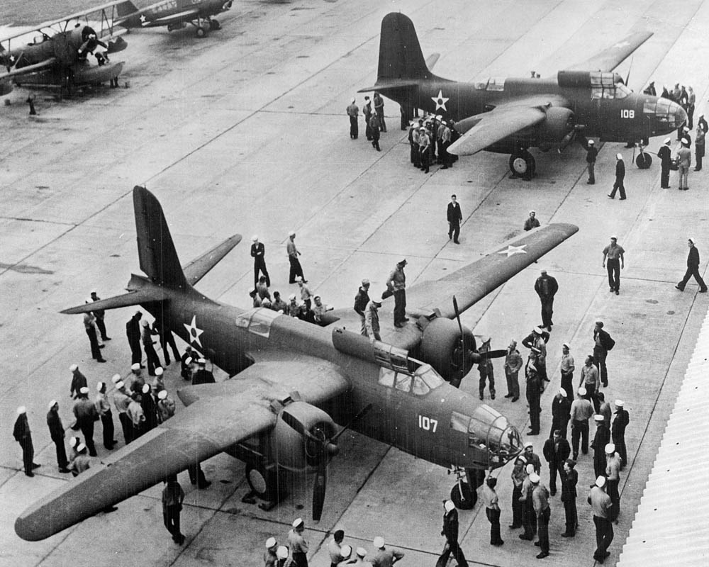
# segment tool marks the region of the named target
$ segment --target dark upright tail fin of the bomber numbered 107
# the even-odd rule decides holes
[[[152,283],[166,288],[185,289],[184,272],[160,202],[145,187],[135,186],[133,208],[140,269]]]

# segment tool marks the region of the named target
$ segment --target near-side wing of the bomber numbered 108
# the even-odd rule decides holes
[[[510,135],[542,122],[547,117],[544,106],[537,99],[525,104],[524,100],[498,106],[490,112],[477,114],[461,120],[457,126],[465,130],[461,137],[450,145],[448,152],[454,155],[473,155],[489,145]]]

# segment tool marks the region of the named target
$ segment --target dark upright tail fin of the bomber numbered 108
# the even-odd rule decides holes
[[[392,12],[381,21],[379,69],[376,83],[431,79],[413,22],[403,13]]]

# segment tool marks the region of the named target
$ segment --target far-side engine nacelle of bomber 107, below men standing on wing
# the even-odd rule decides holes
[[[475,337],[471,330],[463,327],[466,359],[463,357],[460,329],[451,319],[436,318],[423,330],[421,357],[428,362],[447,382],[456,381],[468,374],[474,364],[471,354],[475,351]]]

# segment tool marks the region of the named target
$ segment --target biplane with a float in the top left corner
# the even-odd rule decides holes
[[[123,62],[112,62],[108,54],[126,47],[113,21],[121,0],[73,13],[55,21],[40,23],[34,32],[19,33],[0,40],[0,95],[14,85],[67,89],[106,81],[118,86]],[[102,50],[97,49],[101,47]],[[91,64],[89,55],[96,57]]]

